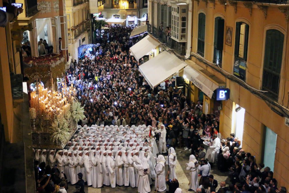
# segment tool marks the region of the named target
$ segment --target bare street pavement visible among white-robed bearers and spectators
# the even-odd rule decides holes
[[[189,172],[186,170],[186,163],[189,161],[190,157],[190,151],[185,151],[184,148],[176,148],[176,153],[177,153],[177,165],[176,165],[176,175],[177,179],[179,181],[179,186],[184,192],[192,192],[188,191],[188,183],[189,183]],[[168,168],[166,167],[166,172]],[[214,175],[214,179],[218,181],[218,187],[216,190],[219,188],[219,184],[221,181],[225,181],[226,183],[229,183],[229,178],[227,176],[227,173],[221,173],[218,171],[215,165],[211,165],[211,174]],[[198,181],[199,181],[198,177]],[[155,192],[155,185],[154,181],[153,184],[151,185],[151,192]],[[110,186],[104,186],[103,188],[92,188],[92,187],[85,187],[85,192],[87,193],[104,193],[104,192],[110,192],[110,193],[125,193],[125,192],[132,192],[132,193],[137,193],[138,189],[137,188],[131,188],[131,187],[118,187],[116,185],[116,188],[110,188]],[[75,192],[75,186],[70,185],[68,189],[68,193],[73,193]],[[165,191],[164,191],[165,192]]]

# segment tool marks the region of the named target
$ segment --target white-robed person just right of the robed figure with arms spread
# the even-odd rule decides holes
[[[166,174],[165,174],[165,158],[163,155],[159,155],[157,158],[157,165],[155,166],[155,189],[159,192],[166,190]]]

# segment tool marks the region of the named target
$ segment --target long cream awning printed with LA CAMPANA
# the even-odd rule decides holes
[[[185,67],[184,75],[186,75],[186,78],[188,78],[196,87],[201,89],[203,93],[208,95],[210,98],[212,98],[214,90],[219,87],[190,66]]]

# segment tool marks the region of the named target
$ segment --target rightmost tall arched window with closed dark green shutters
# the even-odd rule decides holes
[[[278,98],[279,93],[283,43],[284,34],[278,30],[267,30],[262,88],[274,98]]]

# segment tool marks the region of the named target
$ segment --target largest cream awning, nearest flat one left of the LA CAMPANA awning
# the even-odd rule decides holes
[[[139,71],[151,88],[171,78],[187,64],[166,51],[139,66]]]

